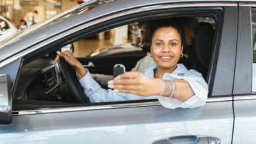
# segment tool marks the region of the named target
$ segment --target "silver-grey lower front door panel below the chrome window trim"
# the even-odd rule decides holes
[[[11,126],[0,128],[1,143],[152,143],[179,135],[207,135],[231,143],[231,100],[208,102],[195,109],[154,105],[77,110],[33,115],[20,111],[21,115],[12,118]]]

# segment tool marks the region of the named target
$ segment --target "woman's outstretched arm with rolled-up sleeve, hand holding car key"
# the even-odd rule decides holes
[[[167,108],[192,108],[204,105],[208,86],[198,72],[188,73],[184,77],[166,75],[165,79],[152,79],[141,73],[128,72],[119,75],[119,79],[110,81],[108,87],[118,92],[136,94],[140,96],[158,95],[160,103]],[[175,84],[173,88],[171,82]],[[174,91],[173,97],[171,96]]]

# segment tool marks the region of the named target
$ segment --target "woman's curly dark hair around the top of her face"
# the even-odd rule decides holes
[[[150,40],[151,44],[152,37],[156,30],[160,29],[161,27],[174,27],[181,35],[181,43],[184,48],[186,48],[187,46],[192,45],[194,38],[196,37],[198,26],[198,20],[190,17],[159,20],[158,22],[154,22],[154,24],[152,24],[152,29],[148,35],[148,39]]]

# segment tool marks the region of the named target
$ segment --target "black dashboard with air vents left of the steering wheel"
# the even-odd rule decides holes
[[[33,60],[22,67],[14,98],[49,100],[47,95],[54,96],[61,79],[58,64],[53,60],[47,57]]]

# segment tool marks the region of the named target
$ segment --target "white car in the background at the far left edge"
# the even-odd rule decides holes
[[[3,16],[0,16],[0,41],[6,39],[7,37],[10,37],[11,35],[14,35],[17,32],[18,30],[16,29],[16,27],[12,26],[9,20],[4,18]]]

